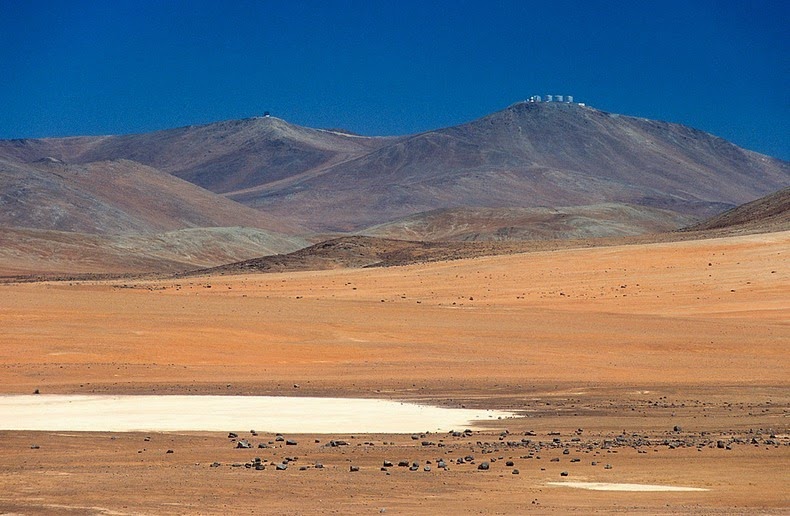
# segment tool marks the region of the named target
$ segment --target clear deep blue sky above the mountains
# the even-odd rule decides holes
[[[0,0],[0,138],[406,134],[561,93],[790,159],[788,26],[787,0]]]

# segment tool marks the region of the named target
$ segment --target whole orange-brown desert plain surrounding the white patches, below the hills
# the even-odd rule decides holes
[[[0,512],[787,512],[789,250],[784,232],[2,285],[4,393],[354,396],[525,417],[506,435],[299,435],[288,447],[268,435],[274,444],[254,450],[225,433],[0,432]],[[474,464],[456,463],[466,455]],[[265,470],[245,467],[256,456]],[[387,472],[384,460],[395,461]],[[708,491],[549,485],[562,481]]]

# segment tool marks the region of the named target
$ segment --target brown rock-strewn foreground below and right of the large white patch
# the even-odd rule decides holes
[[[764,391],[760,403],[733,404],[700,403],[669,392],[601,394],[545,397],[550,404],[539,411],[532,406],[530,417],[496,422],[501,430],[446,434],[5,432],[0,433],[5,493],[0,509],[53,514],[787,509],[783,487],[790,482],[785,467],[790,438],[775,429],[784,423],[787,405],[769,401],[779,393]],[[587,399],[593,402],[588,405]],[[571,404],[574,412],[565,412]],[[668,426],[671,421],[685,426]],[[748,427],[751,423],[758,427]],[[549,485],[565,480],[708,491],[594,492]]]

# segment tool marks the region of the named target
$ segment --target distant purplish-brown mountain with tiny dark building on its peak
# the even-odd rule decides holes
[[[226,194],[309,177],[390,140],[255,117],[144,134],[4,140],[0,157],[30,162],[51,156],[68,163],[122,158]]]

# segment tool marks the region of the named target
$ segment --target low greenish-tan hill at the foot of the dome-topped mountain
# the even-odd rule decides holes
[[[694,220],[669,210],[606,203],[559,208],[446,208],[365,229],[400,240],[554,240],[672,231]]]

